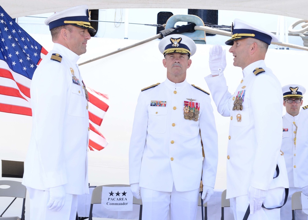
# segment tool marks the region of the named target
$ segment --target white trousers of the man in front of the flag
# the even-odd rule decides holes
[[[47,208],[49,191],[27,187],[30,196],[30,220],[76,220],[78,197],[66,194],[65,204],[55,212]]]

